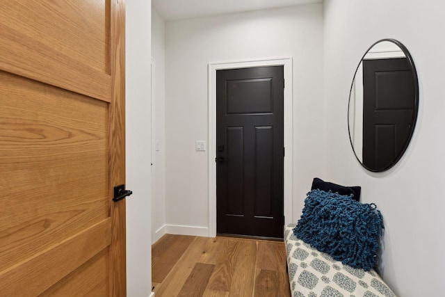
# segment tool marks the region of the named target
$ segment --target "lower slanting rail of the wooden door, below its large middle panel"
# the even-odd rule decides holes
[[[111,243],[111,218],[0,272],[1,296],[37,296]],[[10,257],[15,257],[10,253]],[[106,271],[108,273],[108,271]],[[95,276],[95,278],[97,275]]]

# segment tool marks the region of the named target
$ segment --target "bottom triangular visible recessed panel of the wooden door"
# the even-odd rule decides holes
[[[108,248],[102,250],[39,297],[109,296],[109,257]]]

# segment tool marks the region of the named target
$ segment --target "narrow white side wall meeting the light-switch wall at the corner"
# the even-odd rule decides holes
[[[165,234],[165,22],[152,8],[152,58],[155,63],[155,138],[159,150],[154,154],[155,174],[152,197],[152,242]]]

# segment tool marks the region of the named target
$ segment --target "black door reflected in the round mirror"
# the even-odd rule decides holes
[[[412,126],[414,81],[407,58],[363,61],[363,164],[383,170]]]

